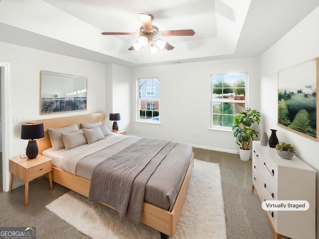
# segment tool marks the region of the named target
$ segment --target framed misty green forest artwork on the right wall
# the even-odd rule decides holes
[[[278,125],[319,140],[319,58],[278,72]]]

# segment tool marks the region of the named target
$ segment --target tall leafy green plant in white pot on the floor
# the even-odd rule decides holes
[[[252,128],[252,125],[259,124],[260,113],[256,110],[246,109],[244,112],[234,116],[232,127],[236,143],[239,147],[239,156],[243,161],[248,161],[250,157],[250,142],[259,132]]]

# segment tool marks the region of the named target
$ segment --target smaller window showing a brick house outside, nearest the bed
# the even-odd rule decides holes
[[[160,116],[160,79],[138,79],[138,120],[154,122]]]

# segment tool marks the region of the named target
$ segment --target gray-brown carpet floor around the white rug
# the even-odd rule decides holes
[[[193,150],[196,159],[220,164],[227,239],[273,239],[272,228],[256,192],[251,194],[251,160],[241,161],[237,154]],[[2,177],[0,180],[2,185]],[[24,187],[14,189],[11,194],[1,191],[1,227],[36,227],[37,239],[88,239],[45,208],[69,191],[56,183],[53,187],[54,191],[50,191],[47,178],[33,180],[29,184],[28,207],[24,207]]]

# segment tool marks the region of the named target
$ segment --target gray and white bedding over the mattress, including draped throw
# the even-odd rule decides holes
[[[138,141],[140,145],[135,144]],[[154,147],[151,146],[151,141],[155,142]],[[141,214],[143,195],[144,202],[167,211],[172,210],[191,154],[192,147],[187,144],[151,138],[142,140],[142,137],[112,133],[103,140],[64,150],[57,156],[60,158],[59,166],[62,170],[93,182],[90,200],[104,201],[117,207],[119,211],[123,210],[120,212],[121,217],[125,215],[137,222]],[[100,165],[101,162],[103,165]],[[102,168],[104,169],[101,170]],[[106,174],[110,173],[116,177],[107,179],[110,176],[98,176],[95,171],[105,171]],[[121,181],[125,177],[129,178],[128,185]],[[98,178],[102,181],[98,182]],[[104,191],[97,192],[96,189]],[[137,193],[139,191],[141,194]],[[117,198],[109,201],[111,194]],[[124,205],[121,205],[123,202]]]

